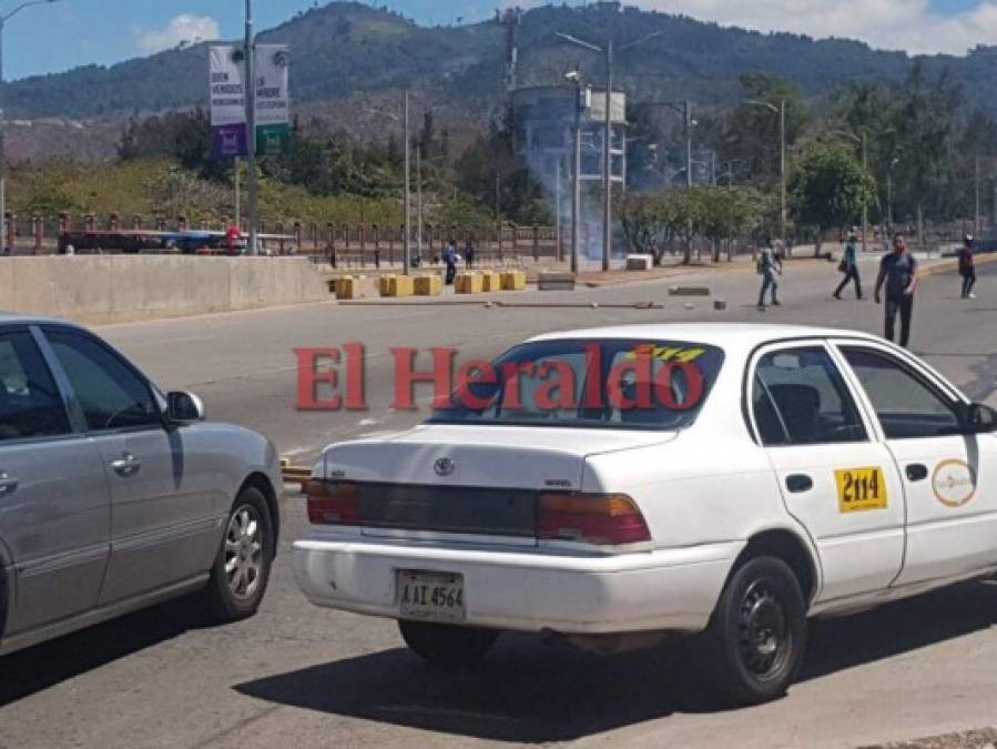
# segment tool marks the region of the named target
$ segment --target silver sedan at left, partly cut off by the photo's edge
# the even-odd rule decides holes
[[[196,396],[80,327],[0,316],[0,655],[185,594],[252,616],[282,486],[274,446]]]

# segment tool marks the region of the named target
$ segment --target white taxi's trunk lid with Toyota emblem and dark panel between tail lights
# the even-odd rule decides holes
[[[364,535],[536,543],[541,492],[579,492],[587,457],[673,433],[431,425],[332,447],[324,475],[355,483]]]

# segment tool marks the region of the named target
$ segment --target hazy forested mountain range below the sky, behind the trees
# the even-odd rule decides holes
[[[601,81],[601,60],[563,43],[557,32],[597,43],[611,34],[619,45],[657,34],[617,60],[618,85],[638,101],[730,104],[742,95],[739,79],[749,72],[785,78],[806,98],[821,100],[850,81],[903,80],[919,59],[929,75],[948,71],[971,100],[997,114],[997,48],[980,47],[965,57],[913,58],[851,40],[760,33],[616,2],[547,6],[523,14],[520,84],[560,83],[574,65],[597,85]],[[427,28],[386,8],[332,2],[263,32],[260,41],[292,45],[296,108],[342,123],[356,124],[358,111],[376,109],[372,102],[387,98],[394,101],[403,90],[410,90],[423,107],[451,113],[469,126],[487,125],[501,105],[506,42],[495,21]],[[106,122],[204,105],[210,45],[8,83],[4,110],[19,120]]]

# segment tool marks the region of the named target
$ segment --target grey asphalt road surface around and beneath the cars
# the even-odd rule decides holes
[[[539,332],[654,321],[881,328],[872,302],[831,298],[833,266],[791,266],[785,306],[764,315],[753,306],[755,276],[699,280],[728,301],[725,312],[703,300],[686,310],[668,297],[669,282],[655,282],[503,297],[579,303],[572,308],[324,304],[100,333],[164,387],[194,389],[213,417],[258,428],[306,462],[328,442],[420,417],[388,408],[395,346],[454,346],[461,358],[487,358]],[[914,348],[994,404],[997,265],[981,269],[976,302],[962,302],[957,284],[954,275],[923,283]],[[665,307],[604,306],[652,301]],[[583,306],[591,303],[603,306]],[[292,350],[353,341],[367,347],[369,411],[295,412]],[[997,586],[815,623],[803,678],[787,698],[722,710],[685,676],[680,647],[602,659],[515,636],[479,672],[428,670],[400,647],[393,623],[304,601],[287,555],[304,526],[303,500],[287,496],[282,510],[282,556],[253,620],[205,628],[177,601],[0,659],[0,747],[850,747],[997,723]]]

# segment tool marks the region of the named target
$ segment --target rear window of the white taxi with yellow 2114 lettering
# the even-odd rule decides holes
[[[722,364],[721,350],[689,342],[527,343],[458,381],[428,423],[682,429]]]

